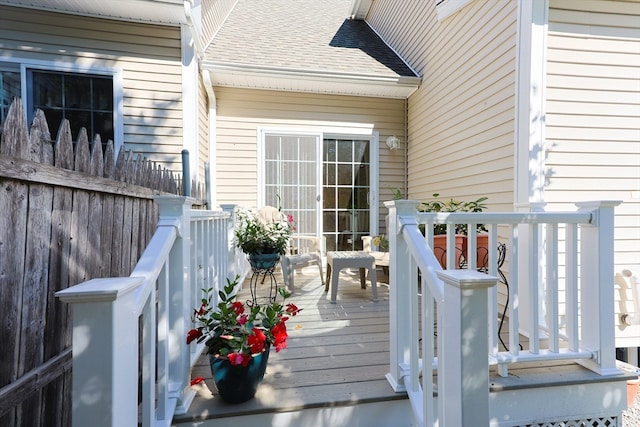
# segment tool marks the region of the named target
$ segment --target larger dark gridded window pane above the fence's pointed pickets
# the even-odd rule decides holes
[[[114,140],[111,76],[28,70],[27,79],[29,121],[33,120],[35,110],[41,109],[53,139],[66,118],[74,139],[84,127],[89,141],[96,134],[103,144]]]

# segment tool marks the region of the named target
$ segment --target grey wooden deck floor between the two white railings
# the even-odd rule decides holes
[[[282,276],[276,275],[278,283]],[[389,371],[389,288],[379,283],[378,302],[370,285],[360,288],[357,270],[340,275],[338,301],[331,304],[316,267],[296,272],[289,302],[303,311],[287,322],[287,349],[269,356],[255,399],[237,405],[218,397],[208,358],[201,357],[192,378],[198,395],[188,414],[175,423],[267,412],[290,412],[395,399],[385,379]],[[246,286],[245,286],[246,287]]]

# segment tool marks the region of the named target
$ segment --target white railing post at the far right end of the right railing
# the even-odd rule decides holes
[[[580,226],[580,347],[595,359],[578,360],[600,375],[616,375],[614,313],[614,208],[619,201],[576,203],[579,211],[592,211],[591,224]]]

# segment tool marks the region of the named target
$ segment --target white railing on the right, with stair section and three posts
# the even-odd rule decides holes
[[[489,425],[490,364],[507,375],[514,362],[572,359],[601,375],[619,373],[613,312],[618,204],[580,203],[575,212],[419,213],[417,201],[386,203],[387,379],[407,392],[419,425]],[[447,224],[448,266],[455,263],[454,225],[468,224],[466,269],[442,269],[431,250],[433,224]],[[476,253],[476,224],[486,224],[489,248],[506,244],[502,271],[497,250],[489,251],[488,274],[476,271],[476,257],[468,255]],[[500,287],[498,275],[506,279]],[[499,297],[507,298],[508,350],[499,348]]]

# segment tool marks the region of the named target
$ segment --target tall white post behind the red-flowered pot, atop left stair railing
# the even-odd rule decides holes
[[[172,225],[178,230],[178,236],[171,249],[167,263],[169,269],[168,299],[168,344],[175,349],[169,353],[169,397],[177,400],[176,413],[188,410],[195,392],[189,387],[191,361],[189,347],[186,345],[187,331],[191,316],[191,283],[189,260],[191,227],[189,210],[195,201],[191,197],[156,196],[159,206],[158,227]]]

